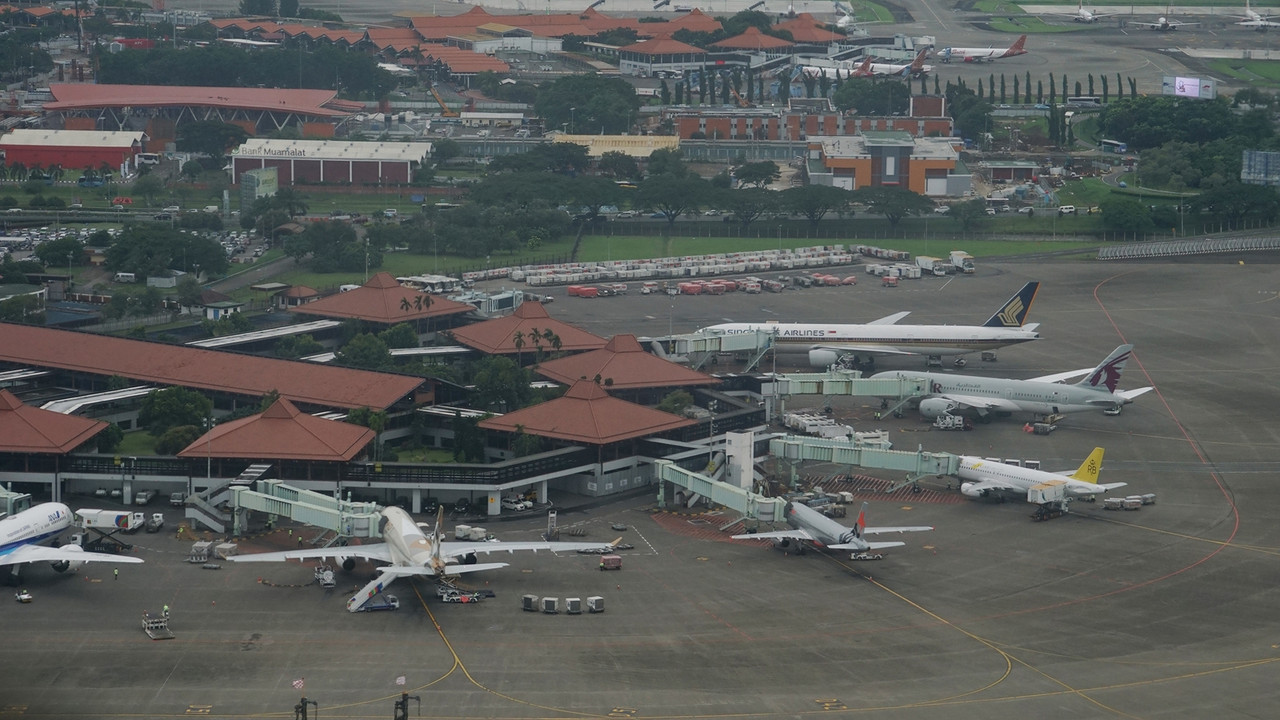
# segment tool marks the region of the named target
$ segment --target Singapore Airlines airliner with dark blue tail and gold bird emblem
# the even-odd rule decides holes
[[[1038,282],[1030,282],[1009,299],[982,325],[899,325],[909,313],[897,313],[867,324],[850,323],[723,323],[700,329],[708,334],[763,332],[774,336],[780,354],[804,352],[817,368],[858,364],[859,356],[877,355],[966,355],[1006,345],[1039,340],[1038,323],[1023,325],[1032,309]],[[956,360],[963,365],[963,359]]]

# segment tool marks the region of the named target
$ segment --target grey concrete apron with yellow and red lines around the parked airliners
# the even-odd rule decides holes
[[[937,529],[852,562],[727,541],[718,528],[732,516],[654,514],[650,497],[632,497],[561,514],[588,539],[635,544],[621,571],[599,571],[594,556],[520,553],[472,579],[492,600],[443,605],[430,584],[401,580],[398,611],[357,615],[344,602],[367,566],[324,591],[308,565],[205,570],[183,561],[191,538],[140,534],[147,564],[119,579],[102,568],[28,570],[36,601],[0,610],[0,716],[288,717],[305,694],[320,717],[385,717],[401,691],[421,696],[422,717],[447,719],[1266,715],[1280,705],[1276,265],[979,259],[973,277],[895,290],[559,297],[550,310],[595,332],[641,334],[897,310],[913,310],[906,322],[969,323],[1027,279],[1044,282],[1032,310],[1043,340],[965,372],[1083,368],[1124,341],[1137,352],[1121,387],[1156,391],[1120,416],[1073,415],[1050,436],[1020,421],[968,433],[929,432],[913,415],[879,425],[899,448],[1034,457],[1048,469],[1103,446],[1103,479],[1155,492],[1156,505],[1076,503],[1033,523],[1024,503],[960,501],[931,479],[929,492],[877,498],[870,523]],[[863,428],[876,425],[873,411],[869,401],[835,407]],[[531,539],[543,521],[490,529]],[[291,543],[276,530],[242,551]],[[525,593],[599,594],[607,610],[522,612]],[[177,638],[155,642],[141,614],[163,605]]]

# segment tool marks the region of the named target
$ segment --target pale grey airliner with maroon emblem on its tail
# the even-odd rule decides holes
[[[1111,351],[1093,370],[1073,370],[1056,375],[1044,375],[1029,380],[1009,378],[983,378],[977,375],[955,375],[950,373],[911,373],[890,370],[877,373],[877,378],[924,378],[931,392],[920,400],[920,415],[977,415],[989,419],[991,415],[1011,415],[1032,413],[1034,415],[1060,415],[1064,413],[1083,413],[1103,410],[1119,414],[1120,409],[1133,402],[1149,387],[1120,391],[1120,373],[1133,355],[1132,345],[1121,345]],[[1075,384],[1062,384],[1061,380],[1087,375]]]

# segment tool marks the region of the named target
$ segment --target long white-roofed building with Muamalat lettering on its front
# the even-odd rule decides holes
[[[430,142],[252,138],[233,152],[232,176],[276,168],[282,184],[404,183],[430,156]]]

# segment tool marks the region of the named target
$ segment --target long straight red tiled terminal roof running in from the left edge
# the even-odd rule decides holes
[[[390,407],[421,378],[0,323],[0,361],[325,407]]]

